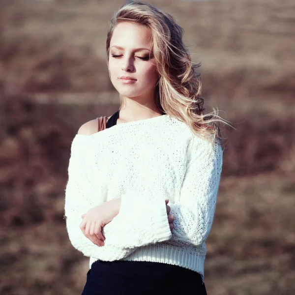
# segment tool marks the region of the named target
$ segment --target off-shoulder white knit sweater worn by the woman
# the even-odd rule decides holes
[[[194,140],[193,140],[194,139]],[[72,142],[65,189],[66,228],[77,250],[96,260],[149,261],[186,267],[204,279],[222,169],[222,148],[193,136],[169,115],[114,125]],[[83,235],[81,215],[121,198],[104,226],[105,245]],[[174,215],[171,232],[165,199]]]

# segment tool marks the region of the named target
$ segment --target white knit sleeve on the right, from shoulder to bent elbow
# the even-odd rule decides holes
[[[217,143],[213,149],[205,141],[198,143],[188,160],[179,201],[168,204],[174,215],[172,238],[166,241],[169,244],[200,245],[212,226],[223,150]]]

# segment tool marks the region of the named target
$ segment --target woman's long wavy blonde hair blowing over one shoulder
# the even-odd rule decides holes
[[[212,113],[204,114],[200,73],[195,72],[201,64],[193,65],[189,50],[182,41],[183,29],[176,24],[174,17],[146,2],[122,5],[111,19],[106,42],[107,63],[114,29],[122,22],[146,26],[151,31],[151,52],[159,73],[155,86],[155,104],[159,111],[186,123],[193,134],[209,140],[212,148],[216,139],[222,144],[218,122],[226,121],[214,108]],[[120,107],[122,103],[120,95]]]

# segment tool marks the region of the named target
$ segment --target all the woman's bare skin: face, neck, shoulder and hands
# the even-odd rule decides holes
[[[145,49],[137,50],[138,48]],[[118,24],[110,43],[109,72],[112,84],[124,97],[117,124],[162,115],[154,104],[154,87],[158,73],[153,63],[151,33],[148,28],[128,22]],[[131,76],[136,82],[124,84],[118,79],[121,76]],[[78,134],[91,135],[96,132],[95,119],[83,124]],[[165,204],[172,231],[174,216],[169,214],[168,201]],[[83,234],[97,246],[103,246],[105,237],[101,234],[101,229],[118,215],[120,206],[121,199],[118,198],[89,209],[81,216],[80,229]]]

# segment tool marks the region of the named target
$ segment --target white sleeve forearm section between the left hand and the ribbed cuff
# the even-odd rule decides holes
[[[140,201],[145,199],[145,201]],[[139,198],[136,191],[121,196],[118,215],[103,228],[105,245],[140,247],[166,241],[172,233],[165,200]]]

